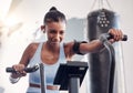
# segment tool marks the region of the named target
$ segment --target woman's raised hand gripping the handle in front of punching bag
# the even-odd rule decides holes
[[[114,41],[121,41],[123,38],[122,31],[117,30],[117,29],[110,29],[109,33],[111,33],[113,35]]]

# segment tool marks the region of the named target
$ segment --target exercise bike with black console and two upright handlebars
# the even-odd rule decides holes
[[[113,83],[114,83],[114,70],[115,70],[115,51],[113,45],[108,41],[109,39],[113,38],[109,33],[103,33],[100,37],[100,40],[103,42],[104,46],[109,50],[110,53],[110,74],[109,74],[109,90],[108,93],[113,93]],[[124,35],[122,41],[126,41],[127,37]],[[32,73],[40,68],[40,78],[41,78],[41,93],[45,92],[45,84],[44,84],[44,72],[43,72],[43,64],[37,64],[32,68],[25,68],[24,71],[27,73]],[[60,84],[60,90],[69,90],[69,93],[79,93],[79,87],[82,84],[83,78],[88,70],[89,65],[88,62],[68,62],[66,64],[60,64],[57,76],[54,79],[54,84]],[[17,73],[12,68],[7,68],[7,72]],[[65,73],[65,74],[64,74]]]

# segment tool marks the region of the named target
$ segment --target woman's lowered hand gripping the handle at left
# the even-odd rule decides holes
[[[24,64],[14,64],[12,68],[16,70],[17,73],[12,73],[11,76],[13,79],[25,76],[27,72],[24,71]]]

